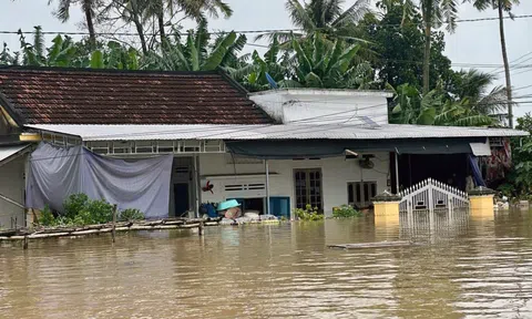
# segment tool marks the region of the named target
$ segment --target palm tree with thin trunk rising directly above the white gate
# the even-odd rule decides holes
[[[405,0],[405,17],[411,16],[415,0]],[[447,24],[449,32],[454,31],[458,18],[458,0],[418,0],[418,7],[423,19],[424,52],[423,52],[423,93],[430,90],[430,41],[432,29]]]

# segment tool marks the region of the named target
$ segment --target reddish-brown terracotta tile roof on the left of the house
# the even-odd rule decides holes
[[[218,72],[7,68],[0,69],[2,99],[27,124],[273,122]]]

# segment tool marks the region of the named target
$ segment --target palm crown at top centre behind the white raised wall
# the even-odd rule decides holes
[[[283,42],[290,41],[296,38],[304,38],[319,32],[326,39],[334,41],[338,38],[351,39],[354,38],[354,27],[367,12],[369,12],[370,0],[356,0],[352,6],[342,10],[345,0],[310,0],[308,3],[301,3],[299,0],[287,0],[286,9],[290,14],[291,23],[301,29],[301,32],[276,32],[263,34],[270,38],[276,34]]]

